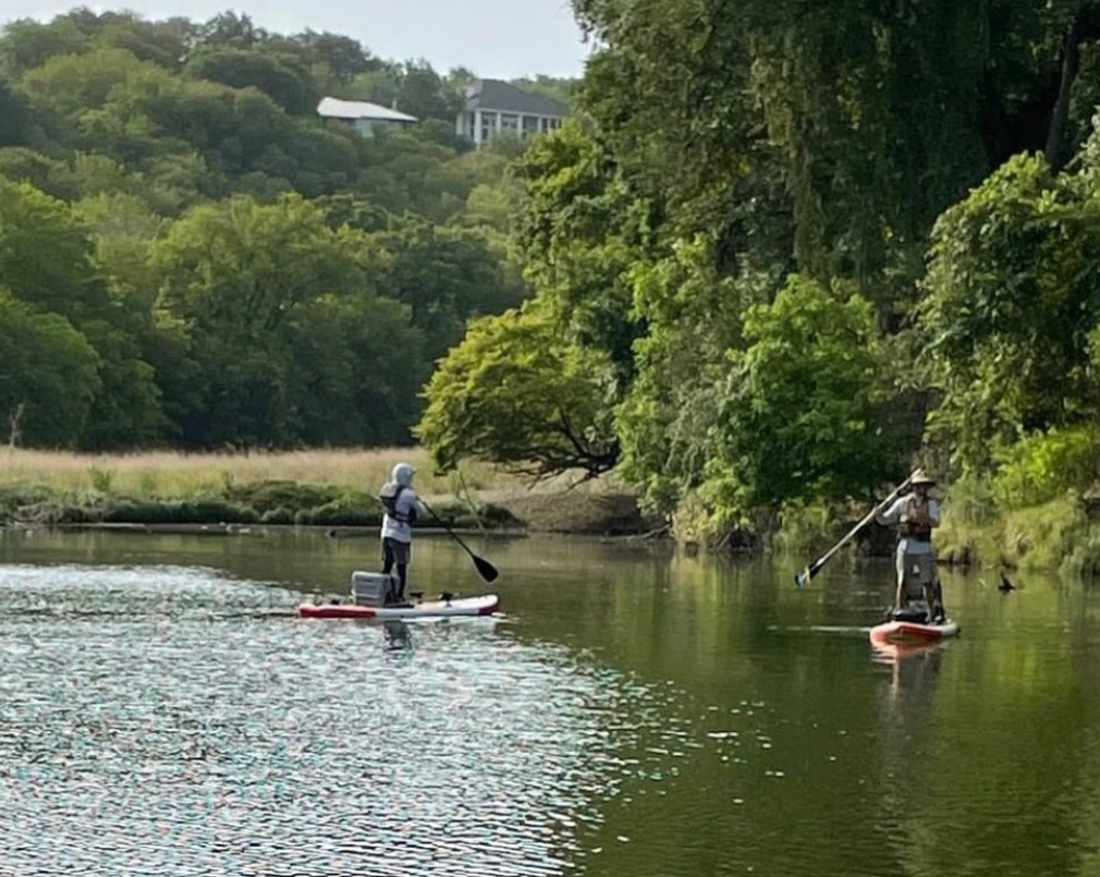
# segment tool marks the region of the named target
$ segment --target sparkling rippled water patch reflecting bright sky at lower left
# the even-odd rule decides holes
[[[0,573],[0,848],[31,875],[541,875],[647,695],[492,622],[265,617],[210,570]]]

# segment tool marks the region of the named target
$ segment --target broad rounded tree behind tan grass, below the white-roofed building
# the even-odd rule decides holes
[[[237,197],[176,221],[151,259],[198,366],[184,443],[407,440],[426,362],[408,311],[371,283],[376,242],[299,196]]]

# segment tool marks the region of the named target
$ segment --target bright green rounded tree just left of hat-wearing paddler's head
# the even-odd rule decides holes
[[[895,474],[912,449],[887,409],[891,370],[870,304],[795,276],[744,321],[705,490],[719,514],[867,494]]]

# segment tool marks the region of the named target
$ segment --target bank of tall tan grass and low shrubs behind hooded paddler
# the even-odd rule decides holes
[[[421,449],[282,453],[78,454],[0,451],[0,524],[293,524],[374,527],[377,492],[400,461],[449,525],[629,534],[651,526],[610,479],[532,489],[483,464],[438,476]],[[428,522],[425,522],[426,524]]]

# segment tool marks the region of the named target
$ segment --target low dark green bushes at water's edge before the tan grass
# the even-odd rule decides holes
[[[474,494],[468,501],[428,497],[430,515],[418,528],[440,522],[459,530],[543,531],[624,536],[648,534],[630,494]],[[69,491],[50,485],[0,485],[0,526],[7,527],[191,527],[237,531],[246,525],[315,526],[330,535],[376,530],[383,507],[377,497],[343,485],[285,480],[227,483],[193,496],[162,498],[134,493]]]

